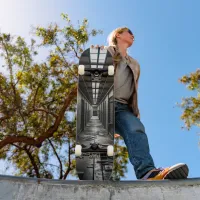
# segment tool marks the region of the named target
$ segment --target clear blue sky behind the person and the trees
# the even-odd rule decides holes
[[[182,130],[176,102],[195,95],[178,82],[200,66],[200,1],[186,0],[0,0],[0,30],[30,38],[31,25],[63,26],[60,14],[73,23],[87,18],[103,35],[90,44],[106,45],[108,34],[128,26],[135,35],[129,54],[141,67],[139,107],[157,167],[185,162],[189,177],[200,176],[199,129]],[[41,55],[40,59],[44,59]],[[2,163],[3,170],[3,163]],[[2,171],[1,170],[1,171]],[[132,165],[125,180],[135,180]]]

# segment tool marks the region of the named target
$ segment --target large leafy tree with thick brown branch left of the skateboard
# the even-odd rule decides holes
[[[89,38],[102,31],[90,30],[87,19],[75,27],[67,14],[62,17],[64,28],[36,27],[30,44],[20,36],[0,33],[7,70],[0,73],[0,159],[16,168],[15,175],[75,175],[76,121],[66,114],[76,110],[78,58]],[[41,48],[49,55],[39,63],[34,59]]]

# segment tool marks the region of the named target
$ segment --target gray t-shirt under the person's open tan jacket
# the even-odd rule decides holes
[[[114,76],[115,101],[128,104],[128,100],[133,92],[133,87],[133,73],[124,58],[118,64]]]

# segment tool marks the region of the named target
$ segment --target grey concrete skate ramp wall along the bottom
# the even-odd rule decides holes
[[[74,181],[0,176],[0,200],[198,200],[200,179]]]

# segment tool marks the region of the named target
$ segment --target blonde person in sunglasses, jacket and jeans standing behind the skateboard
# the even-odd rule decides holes
[[[135,37],[128,27],[119,27],[109,34],[109,45],[104,47],[113,57],[115,72],[115,132],[124,139],[137,179],[185,179],[189,172],[186,164],[156,168],[150,154],[148,138],[138,108],[140,65],[127,53],[134,40]]]

